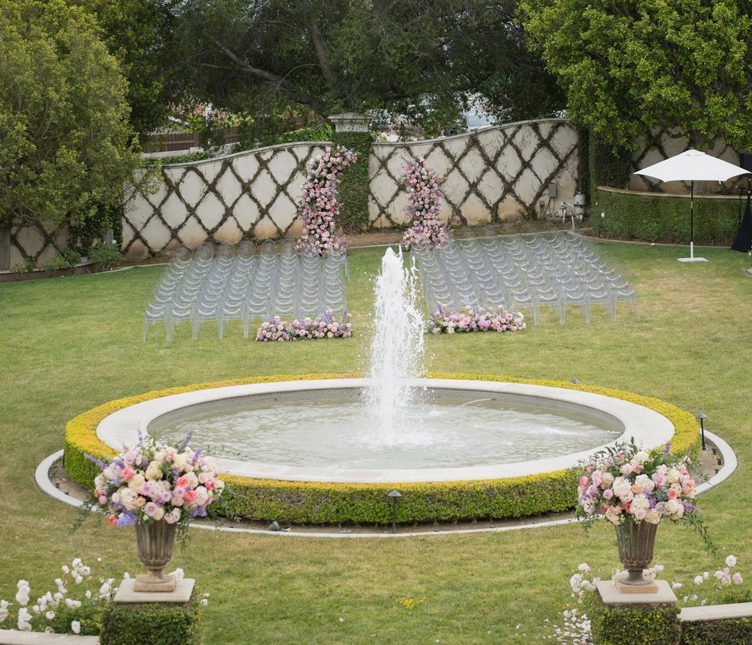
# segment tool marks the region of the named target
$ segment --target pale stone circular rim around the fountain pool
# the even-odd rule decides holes
[[[323,389],[363,389],[368,379],[296,380],[275,383],[253,383],[238,386],[223,386],[200,389],[193,392],[168,395],[124,407],[106,416],[97,425],[97,437],[115,450],[138,442],[138,434],[147,433],[157,419],[183,408],[190,408],[211,401],[244,398],[253,395],[305,392]],[[553,410],[559,407],[578,407],[590,413],[609,417],[623,428],[619,438],[609,444],[594,447],[566,456],[514,462],[499,465],[479,465],[465,468],[414,468],[414,469],[369,469],[353,468],[305,468],[287,465],[245,462],[235,459],[209,456],[223,474],[252,479],[328,482],[328,483],[391,483],[391,482],[451,482],[465,480],[499,480],[523,477],[572,468],[593,453],[612,447],[617,443],[634,439],[645,449],[663,446],[671,441],[675,428],[655,410],[625,401],[620,398],[529,383],[502,381],[410,379],[410,386],[429,389],[464,390],[481,393],[496,393],[511,397],[544,400]]]

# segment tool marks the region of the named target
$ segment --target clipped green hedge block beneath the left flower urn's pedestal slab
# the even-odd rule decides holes
[[[102,616],[102,645],[199,645],[199,592],[190,601],[171,603],[111,602]]]

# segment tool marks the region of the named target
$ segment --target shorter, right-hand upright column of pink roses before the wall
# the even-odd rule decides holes
[[[411,159],[405,164],[405,193],[411,226],[402,236],[402,249],[438,247],[447,241],[447,227],[439,223],[441,213],[441,184],[444,180],[426,168],[426,159]]]

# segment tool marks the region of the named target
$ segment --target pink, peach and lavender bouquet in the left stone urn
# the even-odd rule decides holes
[[[176,448],[147,435],[109,463],[92,461],[102,468],[94,478],[93,505],[111,525],[163,519],[187,528],[191,518],[206,515],[225,486],[217,467],[200,450],[191,450],[187,438]]]

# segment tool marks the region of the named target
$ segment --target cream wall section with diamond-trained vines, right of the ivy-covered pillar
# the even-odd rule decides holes
[[[534,210],[556,183],[559,199],[577,188],[578,135],[562,119],[511,123],[469,135],[374,144],[369,160],[371,226],[405,222],[402,166],[409,157],[445,177],[443,220],[450,224],[499,222]]]

